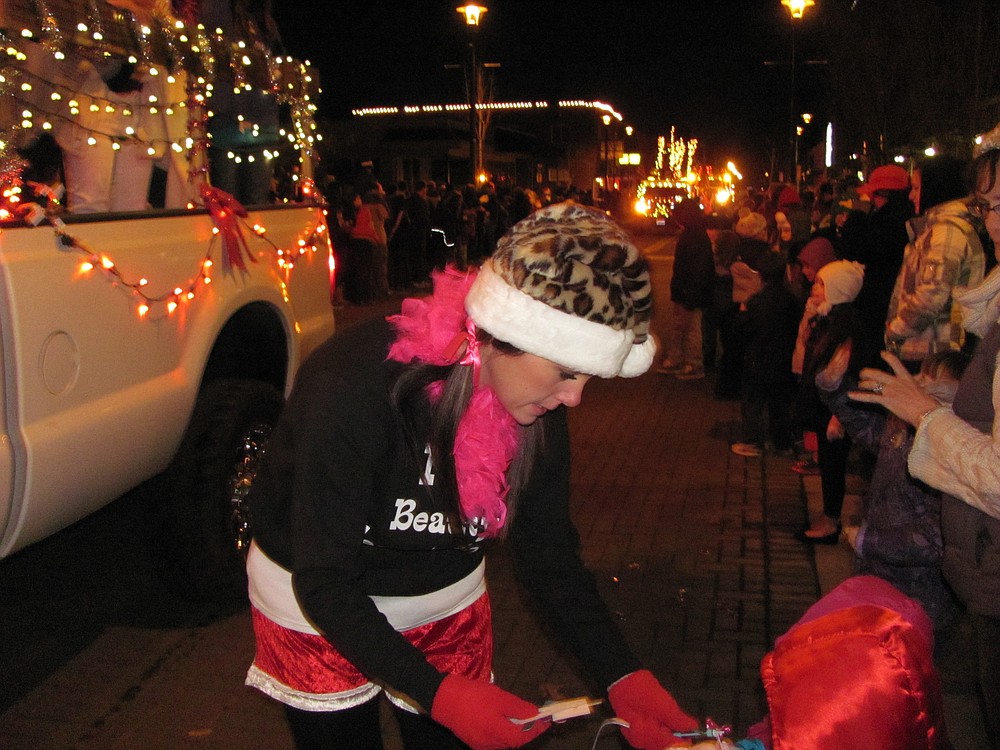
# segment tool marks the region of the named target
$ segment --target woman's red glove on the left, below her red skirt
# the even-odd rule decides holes
[[[483,680],[457,674],[444,678],[434,696],[431,718],[448,727],[472,750],[520,747],[551,726],[536,721],[523,729],[511,719],[530,719],[538,707]]]

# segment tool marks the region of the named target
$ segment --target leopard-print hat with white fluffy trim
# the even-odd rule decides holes
[[[574,372],[649,369],[656,344],[649,269],[607,215],[572,202],[515,224],[483,263],[465,309],[480,328]]]

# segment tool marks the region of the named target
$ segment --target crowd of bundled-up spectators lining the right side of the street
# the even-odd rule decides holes
[[[983,139],[971,164],[938,156],[863,182],[773,185],[709,216],[716,291],[702,332],[716,397],[742,402],[732,452],[801,457],[793,469],[819,475],[823,510],[796,538],[849,545],[857,574],[929,616],[932,647],[968,614],[995,740],[1000,620],[984,593],[1000,580],[998,511],[984,467],[996,451],[1000,127]],[[861,517],[842,519],[851,457],[865,491]]]

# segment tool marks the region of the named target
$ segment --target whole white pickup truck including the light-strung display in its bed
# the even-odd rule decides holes
[[[299,364],[334,327],[309,179],[319,82],[271,52],[266,19],[206,28],[171,13],[153,0],[0,0],[0,558],[142,487],[168,580],[245,597],[244,498]],[[209,127],[235,117],[213,114],[216,84],[284,111],[283,158],[302,179],[282,197],[296,202],[244,215],[207,184]],[[37,165],[15,151],[45,133],[69,213],[59,180],[29,177]],[[234,149],[219,146],[219,163],[279,156]],[[150,160],[167,175],[157,202],[143,159],[145,175]],[[125,200],[98,207],[111,163]]]

